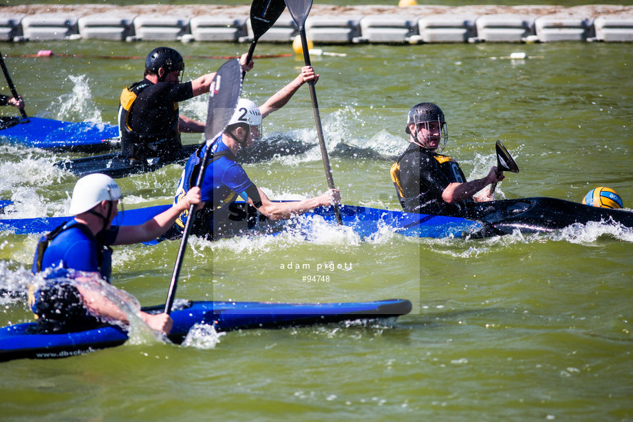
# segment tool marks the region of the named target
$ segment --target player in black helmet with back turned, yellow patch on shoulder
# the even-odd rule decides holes
[[[253,60],[240,59],[242,69]],[[180,114],[178,102],[208,93],[215,72],[182,83],[184,60],[169,47],[153,49],[145,60],[144,79],[121,93],[118,122],[122,153],[129,159],[173,157],[180,152],[180,133],[202,133],[204,122]]]

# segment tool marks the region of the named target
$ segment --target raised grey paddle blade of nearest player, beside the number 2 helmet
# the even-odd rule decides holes
[[[206,111],[204,139],[212,142],[222,133],[235,113],[242,92],[242,66],[233,58],[222,65],[211,82]]]

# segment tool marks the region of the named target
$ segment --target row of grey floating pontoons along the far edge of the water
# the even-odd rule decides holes
[[[312,8],[305,21],[306,34],[314,43],[633,42],[633,6],[345,6],[340,14],[336,13],[340,6],[321,6]],[[0,12],[0,41],[97,38],[244,43],[253,39],[245,8],[222,6],[207,14],[180,9],[176,14],[136,14],[112,6],[112,12],[93,9],[86,16],[81,16],[81,6],[70,12],[54,12],[54,6],[51,10]],[[286,11],[259,41],[289,43],[297,34],[297,25]]]

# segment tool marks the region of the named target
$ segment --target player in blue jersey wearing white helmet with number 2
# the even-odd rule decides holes
[[[316,78],[316,76],[313,77]],[[274,98],[275,96],[271,100]],[[202,182],[202,200],[206,205],[204,210],[195,216],[192,234],[209,240],[235,236],[236,227],[244,227],[244,225],[239,224],[240,216],[235,215],[230,207],[240,198],[272,221],[290,219],[292,216],[320,206],[330,206],[341,200],[339,190],[329,189],[318,197],[302,201],[272,202],[248,178],[244,168],[238,164],[236,155],[261,139],[261,120],[272,111],[274,109],[270,107],[270,100],[262,107],[257,107],[253,101],[244,98],[240,98],[237,102],[237,109],[228,122],[228,126],[211,144],[213,155],[209,159],[211,166],[206,170]],[[206,144],[202,144],[186,163],[176,191],[175,204],[182,201],[184,193],[191,186],[195,186],[205,149]],[[171,233],[180,234],[188,217],[189,212],[184,211],[176,220]],[[242,223],[244,223],[243,220]]]

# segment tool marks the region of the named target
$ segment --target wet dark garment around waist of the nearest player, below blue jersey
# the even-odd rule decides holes
[[[89,313],[81,294],[69,283],[47,285],[35,294],[34,312],[38,316],[38,333],[74,333],[105,325]]]

